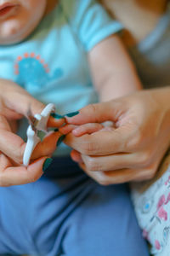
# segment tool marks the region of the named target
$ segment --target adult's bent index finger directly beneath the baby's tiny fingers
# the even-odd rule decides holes
[[[92,134],[82,135],[82,137],[75,137],[69,133],[65,137],[65,143],[81,154],[108,155],[130,152],[135,143],[134,139],[132,129],[122,125],[115,130],[96,131]]]

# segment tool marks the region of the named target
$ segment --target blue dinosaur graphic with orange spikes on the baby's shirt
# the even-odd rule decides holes
[[[15,64],[16,83],[29,90],[39,90],[55,79],[63,75],[61,68],[56,68],[54,73],[50,74],[48,65],[40,59],[39,56],[26,54],[20,57]]]

